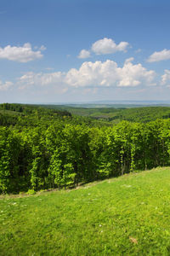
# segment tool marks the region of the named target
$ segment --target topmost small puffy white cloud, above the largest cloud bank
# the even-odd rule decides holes
[[[96,41],[92,45],[92,51],[96,55],[105,55],[105,54],[112,54],[116,51],[126,51],[127,46],[129,44],[127,42],[121,42],[120,44],[116,44],[111,38],[103,38]]]

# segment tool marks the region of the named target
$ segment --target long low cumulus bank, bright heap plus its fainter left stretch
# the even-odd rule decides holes
[[[141,64],[134,65],[133,58],[118,67],[115,61],[85,61],[82,66],[71,68],[67,73],[26,73],[18,84],[20,89],[32,86],[50,86],[64,88],[134,87],[139,84],[153,85],[156,73],[147,70]]]

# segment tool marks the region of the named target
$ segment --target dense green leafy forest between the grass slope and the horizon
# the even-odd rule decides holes
[[[74,188],[168,166],[169,108],[112,109],[124,110],[124,118],[112,123],[67,108],[0,104],[0,193]]]

